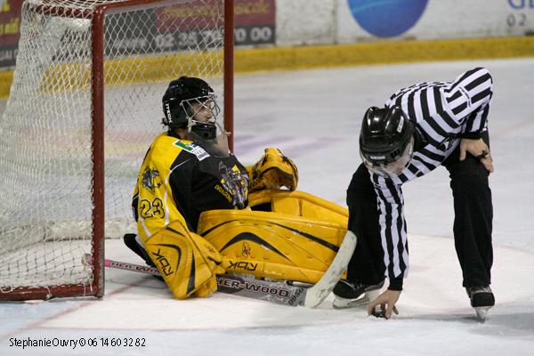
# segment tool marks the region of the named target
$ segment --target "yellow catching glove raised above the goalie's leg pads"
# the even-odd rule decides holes
[[[279,149],[265,149],[262,158],[254,166],[247,166],[250,190],[279,190],[286,187],[295,190],[298,171],[295,163]]]

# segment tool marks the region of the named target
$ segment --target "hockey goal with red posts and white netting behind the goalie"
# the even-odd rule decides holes
[[[0,121],[0,300],[103,295],[104,239],[136,229],[168,83],[205,78],[232,130],[232,13],[228,0],[23,3]]]

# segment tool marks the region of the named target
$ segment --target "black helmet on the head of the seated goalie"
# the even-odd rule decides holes
[[[190,127],[190,119],[194,113],[190,112],[189,103],[207,100],[215,104],[214,90],[204,80],[197,77],[179,77],[173,80],[162,99],[165,114],[163,125],[169,128]]]

